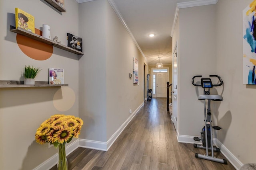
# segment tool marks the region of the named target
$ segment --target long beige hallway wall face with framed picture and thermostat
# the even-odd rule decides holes
[[[106,6],[107,140],[144,101],[144,58],[118,16]],[[122,39],[120,39],[122,37]],[[138,59],[139,84],[133,83],[133,58]]]

